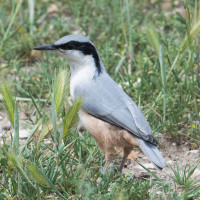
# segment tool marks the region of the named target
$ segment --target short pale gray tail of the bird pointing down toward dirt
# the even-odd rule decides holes
[[[165,159],[162,157],[160,151],[158,148],[149,143],[144,141],[143,139],[136,138],[137,141],[139,142],[139,146],[143,153],[147,156],[147,158],[152,162],[152,164],[157,168],[157,169],[163,169],[166,165]]]

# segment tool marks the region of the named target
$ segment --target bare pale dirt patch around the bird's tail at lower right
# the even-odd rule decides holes
[[[175,184],[173,180],[167,175],[174,175],[172,170],[170,169],[170,166],[173,168],[176,168],[176,163],[179,165],[179,168],[181,166],[185,167],[185,165],[192,165],[197,163],[200,159],[200,147],[191,141],[187,140],[185,137],[179,137],[175,139],[172,139],[170,137],[164,137],[160,134],[159,137],[159,150],[161,151],[163,157],[166,160],[167,166],[162,170],[157,170],[154,168],[153,164],[149,162],[146,156],[138,150],[138,161],[154,172],[160,179],[171,182],[172,184]],[[134,177],[136,178],[148,178],[149,174],[145,171],[144,168],[142,168],[138,163],[134,162],[133,159],[127,161],[127,165],[125,165],[124,173],[132,173]],[[200,184],[200,164],[194,171],[191,179],[197,180],[196,185]]]

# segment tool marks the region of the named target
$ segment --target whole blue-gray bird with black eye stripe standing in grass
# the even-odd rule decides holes
[[[55,51],[70,66],[70,95],[81,97],[80,121],[105,153],[103,173],[112,163],[117,149],[123,157],[119,172],[133,147],[139,147],[155,168],[165,167],[152,129],[136,103],[111,78],[95,45],[85,36],[67,35],[34,50]]]

